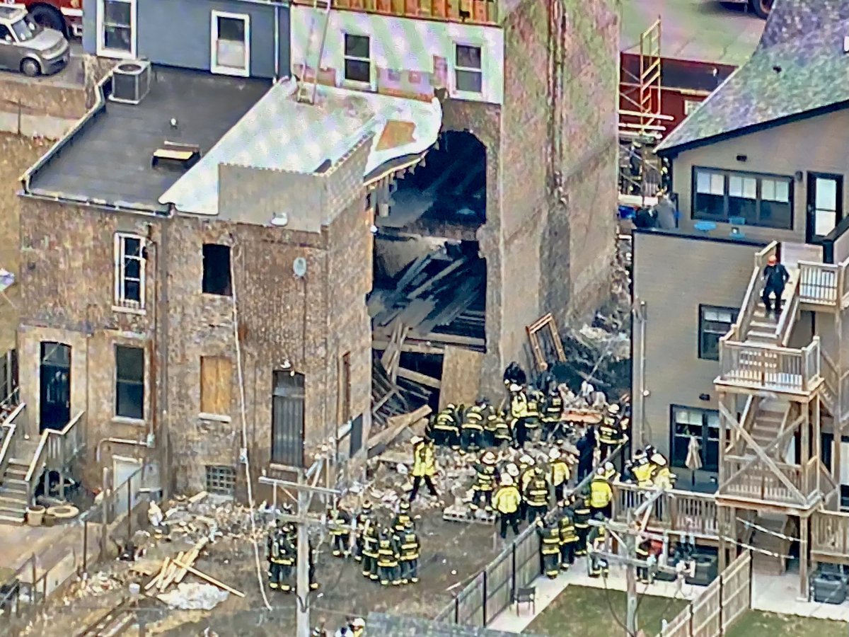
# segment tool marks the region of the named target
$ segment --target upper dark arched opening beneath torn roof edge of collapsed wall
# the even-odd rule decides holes
[[[472,133],[440,135],[424,161],[396,180],[389,217],[381,227],[451,223],[477,228],[486,223],[486,146]]]

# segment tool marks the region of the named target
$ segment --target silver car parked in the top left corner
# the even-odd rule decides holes
[[[65,68],[68,59],[70,47],[59,31],[36,25],[23,7],[0,5],[0,68],[50,75]]]

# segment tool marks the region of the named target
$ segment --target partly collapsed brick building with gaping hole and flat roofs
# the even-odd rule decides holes
[[[539,314],[600,302],[614,250],[616,14],[605,0],[471,4],[438,20],[323,15],[324,30],[338,16],[374,21],[365,68],[402,76],[394,87],[328,80],[322,55],[311,63],[314,28],[298,35],[298,11],[312,3],[291,9],[300,84],[136,62],[149,93],[116,101],[120,65],[23,178],[21,433],[84,414],[87,482],[149,459],[178,490],[238,493],[245,453],[256,474],[302,465],[329,440],[337,459],[362,455],[366,299],[388,243],[458,244],[485,261],[484,347],[469,378],[483,391],[525,360]],[[448,50],[426,56],[429,69],[405,58],[384,73],[391,60],[370,57],[380,20],[440,26]],[[500,47],[494,62],[480,64],[481,42]],[[459,48],[476,49],[466,68]],[[467,153],[465,185],[478,193],[483,178],[483,206],[399,215],[399,184],[438,171],[453,146]],[[464,181],[436,179],[452,183],[442,200]],[[396,272],[413,260],[392,259]]]

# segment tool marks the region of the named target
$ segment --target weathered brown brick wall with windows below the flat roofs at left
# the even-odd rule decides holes
[[[157,219],[40,200],[21,204],[22,397],[30,413],[37,414],[40,342],[69,344],[71,412],[85,409],[88,414],[87,482],[99,482],[93,462],[97,440],[143,440],[148,431],[155,431],[158,441],[153,454],[172,468],[168,477],[180,491],[205,487],[205,465],[238,462],[243,421],[233,306],[228,296],[201,293],[205,243],[232,246],[245,428],[254,466],[270,459],[272,373],[286,359],[306,377],[307,448],[316,448],[339,424],[338,370],[346,352],[351,359],[351,415],[368,414],[371,337],[364,299],[371,287],[372,220],[363,198],[335,215],[320,233],[200,217]],[[149,236],[143,316],[112,310],[113,236],[118,231]],[[292,270],[299,256],[307,262],[303,279]],[[162,268],[167,279],[160,282],[157,271]],[[155,320],[157,310],[161,314]],[[117,344],[147,348],[142,422],[115,419]],[[228,418],[200,413],[202,356],[233,362]],[[166,364],[166,375],[157,369],[161,364]],[[166,386],[161,386],[164,379]],[[159,419],[162,409],[167,409],[164,422]],[[37,419],[30,422],[35,433]],[[169,452],[164,455],[166,437]],[[107,465],[110,450],[128,454],[126,447],[105,447]],[[241,477],[239,481],[244,486]]]

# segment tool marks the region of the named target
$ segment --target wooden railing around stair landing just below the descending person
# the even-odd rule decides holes
[[[821,380],[819,337],[807,347],[790,349],[726,340],[719,347],[717,384],[775,392],[812,392]]]

